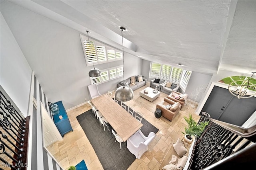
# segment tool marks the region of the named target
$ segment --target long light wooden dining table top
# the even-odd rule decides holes
[[[96,97],[91,102],[123,141],[127,141],[143,125],[107,94]]]

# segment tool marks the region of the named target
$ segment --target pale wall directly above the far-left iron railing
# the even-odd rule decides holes
[[[1,13],[0,83],[25,116],[28,114],[31,72],[28,62]]]

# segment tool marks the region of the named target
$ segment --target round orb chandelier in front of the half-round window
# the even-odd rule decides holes
[[[253,74],[256,72],[252,72]],[[238,99],[240,98],[251,98],[256,94],[256,85],[250,82],[252,76],[244,78],[244,80],[236,80],[231,82],[228,85],[228,91],[236,96]]]

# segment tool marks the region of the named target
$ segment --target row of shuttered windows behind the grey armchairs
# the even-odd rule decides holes
[[[149,78],[162,78],[166,81],[178,83],[185,90],[191,71],[175,68],[165,64],[151,63]]]

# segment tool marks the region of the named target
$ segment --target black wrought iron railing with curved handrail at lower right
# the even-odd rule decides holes
[[[210,118],[203,112],[201,121],[210,120],[194,143],[188,170],[237,169],[255,166],[256,125],[243,128]]]

